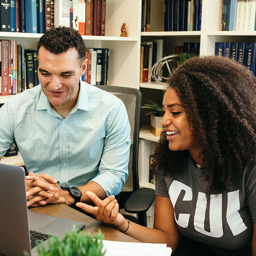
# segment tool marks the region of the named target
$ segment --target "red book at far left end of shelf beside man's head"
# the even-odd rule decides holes
[[[9,95],[9,40],[2,39],[1,95]]]

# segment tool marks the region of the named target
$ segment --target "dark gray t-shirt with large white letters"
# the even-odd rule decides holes
[[[188,155],[173,177],[157,175],[155,193],[169,197],[177,228],[184,236],[223,255],[251,255],[256,223],[256,163],[232,180],[230,190],[206,196],[207,181]]]

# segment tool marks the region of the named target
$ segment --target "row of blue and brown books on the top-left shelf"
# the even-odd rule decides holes
[[[1,0],[0,31],[44,33],[54,26],[53,0]]]

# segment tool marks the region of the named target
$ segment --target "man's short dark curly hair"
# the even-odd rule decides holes
[[[44,33],[38,42],[38,48],[43,46],[49,52],[59,54],[75,48],[78,52],[80,64],[85,58],[85,44],[79,32],[65,26],[54,27]]]

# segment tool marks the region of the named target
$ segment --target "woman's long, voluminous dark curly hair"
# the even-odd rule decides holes
[[[185,109],[193,139],[201,146],[208,191],[231,187],[245,166],[256,160],[256,78],[236,61],[219,56],[194,57],[168,81]],[[187,151],[171,151],[166,132],[154,151],[153,170],[173,176]]]

